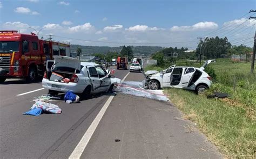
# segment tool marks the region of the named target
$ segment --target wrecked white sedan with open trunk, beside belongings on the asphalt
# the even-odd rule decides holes
[[[72,91],[74,93],[99,93],[112,91],[119,78],[112,78],[109,70],[92,62],[80,62],[68,56],[53,56],[46,63],[46,72],[42,81],[43,88],[49,93]]]

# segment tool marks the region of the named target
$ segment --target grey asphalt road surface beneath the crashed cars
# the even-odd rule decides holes
[[[129,70],[115,70],[123,79]],[[127,81],[142,81],[130,73]],[[61,114],[23,115],[33,97],[46,94],[42,83],[8,80],[0,84],[1,158],[68,158],[110,94],[77,104],[52,101]],[[22,96],[19,94],[27,93]],[[115,142],[114,139],[120,139]],[[81,158],[221,158],[193,124],[181,119],[170,103],[117,93],[85,147]]]

